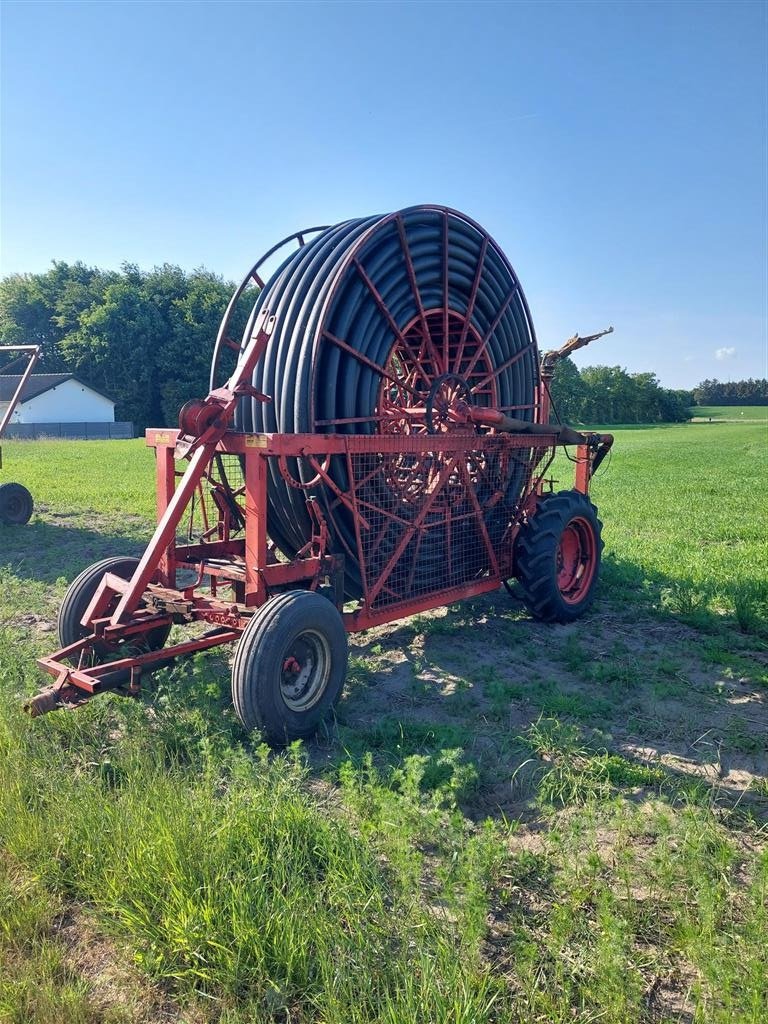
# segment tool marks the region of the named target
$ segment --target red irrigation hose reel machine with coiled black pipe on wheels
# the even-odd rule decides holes
[[[236,711],[281,743],[311,735],[338,699],[348,632],[513,577],[537,617],[575,620],[602,549],[590,480],[613,438],[551,424],[549,384],[596,337],[540,360],[506,257],[444,207],[280,243],[232,296],[208,397],[183,407],[177,431],[146,432],[150,545],[72,584],[61,648],[39,660],[55,681],[28,710],[135,694],[142,673],[238,641]],[[575,447],[575,479],[555,493],[558,445]],[[174,625],[201,624],[168,644]]]

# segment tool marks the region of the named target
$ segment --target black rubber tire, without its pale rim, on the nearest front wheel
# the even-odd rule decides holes
[[[330,671],[318,699],[306,711],[289,708],[281,692],[288,647],[311,629],[328,642]],[[243,631],[232,664],[232,703],[243,727],[258,729],[272,746],[311,736],[341,696],[347,672],[344,623],[328,598],[306,590],[271,597]]]

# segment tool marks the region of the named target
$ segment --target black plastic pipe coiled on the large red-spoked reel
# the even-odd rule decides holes
[[[243,344],[263,308],[275,316],[274,330],[252,383],[272,401],[243,399],[238,430],[397,431],[397,406],[423,404],[432,382],[445,373],[457,374],[475,389],[475,404],[534,419],[539,355],[525,298],[499,247],[456,211],[412,207],[324,230],[266,282]],[[422,346],[420,357],[426,333],[431,343],[428,350]],[[393,385],[382,371],[406,378],[410,390]],[[304,493],[289,486],[273,463],[268,530],[293,557],[311,537],[311,522]],[[290,468],[297,478],[309,478],[307,467]],[[345,487],[343,460],[335,459],[331,472]],[[523,481],[521,468],[509,488],[508,508],[519,498]],[[359,596],[359,568],[351,555],[353,523],[343,508],[331,509],[324,488],[317,489],[329,525],[347,554],[347,594]],[[397,496],[390,501],[396,503]],[[417,583],[444,561],[440,535],[433,534],[418,552]]]

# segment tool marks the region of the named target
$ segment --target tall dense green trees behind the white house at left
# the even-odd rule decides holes
[[[211,352],[233,286],[208,270],[143,272],[54,262],[0,282],[0,343],[42,346],[40,370],[77,374],[138,429],[172,424],[208,393]],[[245,326],[245,309],[233,324]]]

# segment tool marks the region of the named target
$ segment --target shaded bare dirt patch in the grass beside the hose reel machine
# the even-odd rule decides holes
[[[675,621],[629,623],[605,603],[574,626],[542,626],[493,595],[351,638],[341,739],[376,748],[385,724],[390,754],[462,745],[481,769],[477,810],[510,813],[525,797],[524,732],[556,718],[591,749],[736,802],[768,774],[768,690],[751,656],[763,652],[750,643]]]

